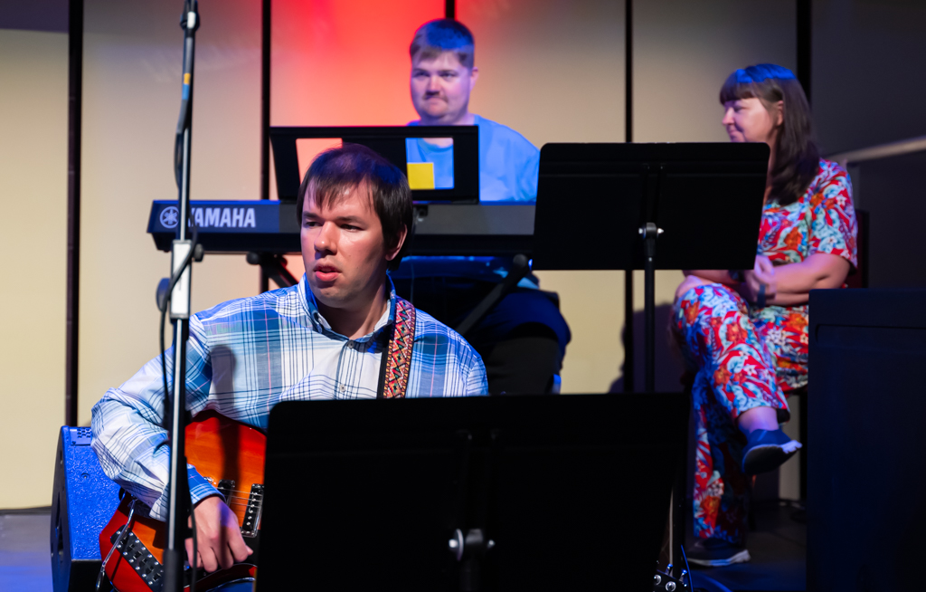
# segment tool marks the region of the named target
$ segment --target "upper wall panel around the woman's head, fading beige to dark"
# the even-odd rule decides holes
[[[647,0],[633,5],[633,140],[726,142],[720,85],[737,68],[795,69],[795,3]]]

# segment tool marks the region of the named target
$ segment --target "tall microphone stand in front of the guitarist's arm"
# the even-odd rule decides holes
[[[170,481],[168,498],[167,544],[164,549],[164,592],[182,592],[184,541],[189,533],[187,519],[191,509],[190,485],[187,481],[184,430],[186,424],[186,341],[190,334],[190,282],[194,241],[187,238],[190,223],[190,139],[193,131],[193,63],[196,29],[199,28],[197,0],[185,0],[183,30],[183,91],[174,162],[180,190],[177,238],[170,254],[170,320],[174,325],[173,397],[169,401]],[[194,229],[195,238],[195,229]],[[165,397],[167,393],[165,393]],[[195,561],[195,558],[192,560]]]

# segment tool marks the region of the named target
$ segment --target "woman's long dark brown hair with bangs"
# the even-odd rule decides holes
[[[757,64],[733,72],[720,88],[720,103],[757,98],[767,109],[784,103],[782,129],[771,170],[770,197],[792,204],[810,186],[820,169],[820,149],[813,139],[810,106],[794,72],[774,64]]]

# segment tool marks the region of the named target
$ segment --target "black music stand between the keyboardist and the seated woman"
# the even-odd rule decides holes
[[[768,167],[765,144],[544,145],[533,269],[645,271],[652,392],[654,271],[751,270]]]

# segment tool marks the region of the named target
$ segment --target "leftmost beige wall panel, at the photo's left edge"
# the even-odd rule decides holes
[[[47,506],[64,422],[67,34],[0,29],[0,203],[0,508]]]

